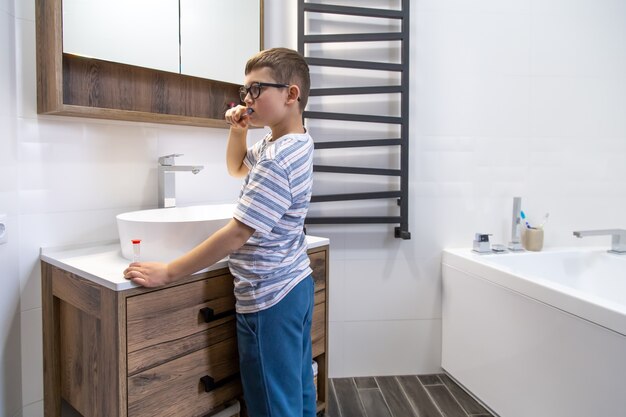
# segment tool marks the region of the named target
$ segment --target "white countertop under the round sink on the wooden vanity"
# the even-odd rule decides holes
[[[316,236],[307,236],[306,238],[309,249],[329,244],[327,238]],[[114,291],[138,287],[122,275],[122,271],[126,269],[129,261],[122,257],[120,243],[117,240],[96,244],[41,248],[40,259]],[[197,273],[225,268],[226,266],[227,258]]]

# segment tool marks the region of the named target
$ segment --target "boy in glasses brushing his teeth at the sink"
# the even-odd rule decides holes
[[[225,114],[228,172],[245,177],[234,218],[169,264],[132,263],[124,276],[165,285],[230,256],[249,416],[314,417],[314,289],[303,232],[313,171],[313,140],[302,122],[309,68],[296,51],[268,49],[247,62],[244,81],[245,106]],[[271,132],[247,149],[248,126]]]

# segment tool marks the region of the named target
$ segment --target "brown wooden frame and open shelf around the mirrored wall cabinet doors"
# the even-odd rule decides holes
[[[239,85],[65,54],[62,0],[35,11],[38,113],[228,128]]]

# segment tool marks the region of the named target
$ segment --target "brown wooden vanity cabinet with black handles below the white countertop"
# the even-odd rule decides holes
[[[318,413],[328,392],[328,246],[315,280]],[[241,399],[233,277],[222,268],[158,289],[113,291],[42,261],[44,415],[200,417]]]

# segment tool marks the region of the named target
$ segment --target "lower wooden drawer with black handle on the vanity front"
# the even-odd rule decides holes
[[[133,375],[128,416],[204,416],[241,395],[238,371],[237,340],[229,338]],[[215,385],[205,385],[205,377]]]

